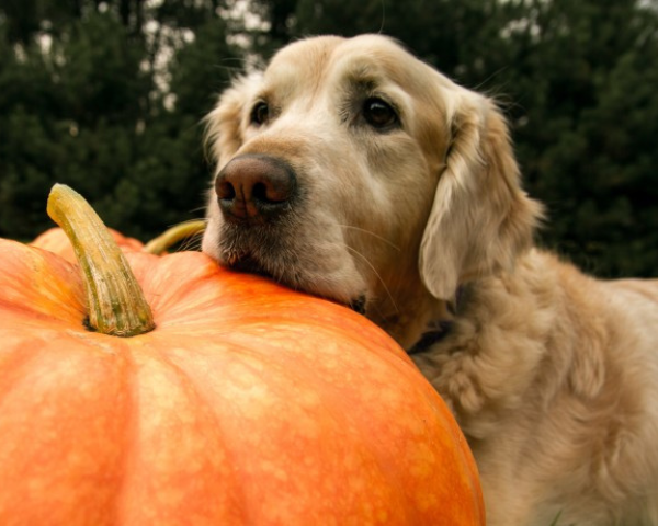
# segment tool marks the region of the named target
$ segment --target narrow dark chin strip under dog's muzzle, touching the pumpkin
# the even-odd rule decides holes
[[[294,290],[300,290],[314,296],[349,307],[354,312],[365,316],[367,294],[360,291],[352,295],[339,295],[328,289],[317,279],[305,276],[305,273],[294,265],[268,264],[251,253],[232,253],[225,255],[222,263],[228,268],[248,274],[268,277]]]

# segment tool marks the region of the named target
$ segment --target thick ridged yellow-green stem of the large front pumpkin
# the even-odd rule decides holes
[[[128,262],[107,228],[76,191],[55,184],[47,213],[73,245],[87,291],[88,327],[136,336],[155,329],[154,316]]]

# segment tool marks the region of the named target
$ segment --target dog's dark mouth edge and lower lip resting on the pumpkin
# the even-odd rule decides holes
[[[308,294],[320,296],[330,301],[343,305],[359,315],[365,316],[367,298],[365,294],[361,294],[348,301],[341,301],[338,297],[332,297],[328,294],[322,294],[314,287],[313,283],[306,283],[295,271],[294,267],[285,266],[285,272],[274,272],[269,265],[266,265],[260,258],[251,252],[231,252],[225,254],[224,264],[229,268],[243,272],[247,274],[256,274],[259,276],[273,279],[276,283],[285,285],[295,290],[303,290]]]

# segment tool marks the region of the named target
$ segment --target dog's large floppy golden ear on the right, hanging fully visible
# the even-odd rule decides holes
[[[461,283],[510,268],[529,247],[541,205],[520,187],[504,118],[492,101],[458,89],[452,141],[421,240],[428,290],[451,299]]]

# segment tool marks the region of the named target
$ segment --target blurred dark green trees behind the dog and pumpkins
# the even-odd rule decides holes
[[[201,217],[200,121],[231,76],[364,32],[502,103],[544,245],[658,275],[658,0],[2,0],[0,236],[52,226],[55,182],[143,240]]]

